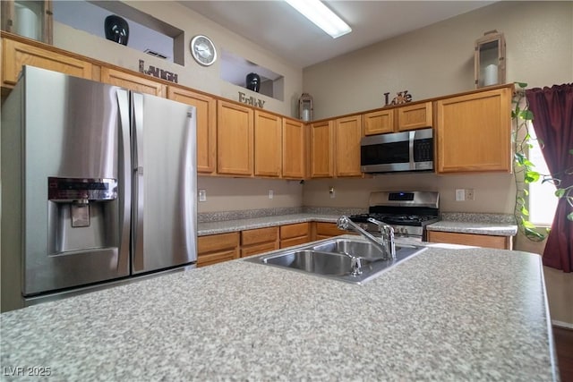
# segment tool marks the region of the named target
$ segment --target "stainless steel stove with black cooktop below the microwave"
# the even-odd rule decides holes
[[[440,220],[440,195],[435,191],[372,192],[368,213],[350,219],[367,232],[378,234],[378,225],[368,222],[369,217],[391,225],[397,237],[422,242],[426,240],[424,227]]]

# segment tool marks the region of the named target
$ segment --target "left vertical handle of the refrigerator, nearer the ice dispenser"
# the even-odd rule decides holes
[[[116,90],[119,110],[119,133],[121,138],[120,168],[123,177],[120,187],[120,254],[119,262],[129,269],[128,259],[130,254],[130,208],[132,206],[132,142],[130,138],[130,99],[125,89]]]

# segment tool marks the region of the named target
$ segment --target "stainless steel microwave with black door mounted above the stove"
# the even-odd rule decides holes
[[[363,173],[433,170],[432,128],[364,137],[360,142]]]

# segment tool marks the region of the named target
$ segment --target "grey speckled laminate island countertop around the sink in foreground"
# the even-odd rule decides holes
[[[556,379],[541,258],[519,251],[431,247],[363,285],[237,259],[0,318],[6,380]]]

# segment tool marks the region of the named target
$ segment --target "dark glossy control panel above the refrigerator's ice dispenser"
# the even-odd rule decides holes
[[[47,199],[71,202],[74,200],[117,199],[117,180],[114,178],[47,178]]]

